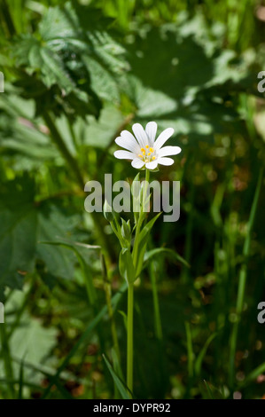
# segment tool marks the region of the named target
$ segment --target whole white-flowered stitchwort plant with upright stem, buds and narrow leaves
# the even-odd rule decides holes
[[[137,173],[133,184],[133,199],[139,203],[140,210],[134,211],[134,225],[121,217],[118,221],[117,214],[113,211],[108,201],[105,201],[104,215],[112,226],[113,232],[121,244],[119,268],[121,276],[128,284],[128,313],[127,313],[127,387],[129,393],[133,392],[133,316],[134,316],[134,284],[140,277],[144,264],[144,253],[152,226],[160,216],[160,213],[147,221],[150,211],[150,193],[148,185],[150,172],[157,169],[158,165],[172,165],[174,160],[169,155],[181,152],[179,146],[164,146],[174,133],[172,128],[163,130],[156,138],[157,123],[148,122],[145,130],[139,123],[133,125],[134,135],[128,130],[121,131],[121,136],[115,139],[117,145],[125,150],[115,151],[118,159],[131,160],[131,165],[136,169],[145,171],[145,180],[139,185],[140,173]],[[135,205],[134,205],[135,207]]]

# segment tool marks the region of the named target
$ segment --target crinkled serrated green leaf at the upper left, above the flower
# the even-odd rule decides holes
[[[53,109],[73,119],[77,114],[98,116],[99,98],[119,101],[117,77],[128,69],[125,51],[105,31],[82,27],[77,10],[70,2],[51,7],[38,33],[21,35],[12,49],[17,67],[27,71],[19,80],[23,94],[38,97],[37,114]]]

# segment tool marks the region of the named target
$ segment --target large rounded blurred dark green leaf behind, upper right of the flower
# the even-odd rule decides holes
[[[196,146],[216,134],[242,131],[238,92],[252,87],[248,64],[219,39],[201,15],[160,28],[146,25],[128,45],[131,73],[126,84],[142,122],[168,124]]]

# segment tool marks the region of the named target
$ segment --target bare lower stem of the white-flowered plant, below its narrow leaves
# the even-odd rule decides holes
[[[134,284],[128,286],[127,312],[127,386],[133,391],[133,323],[134,323]]]

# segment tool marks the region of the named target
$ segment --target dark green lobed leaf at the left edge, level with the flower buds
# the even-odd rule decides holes
[[[0,197],[1,292],[5,286],[21,287],[36,260],[53,277],[73,279],[74,254],[38,242],[69,239],[80,217],[52,205],[49,199],[36,203],[35,182],[26,175],[4,183]]]

